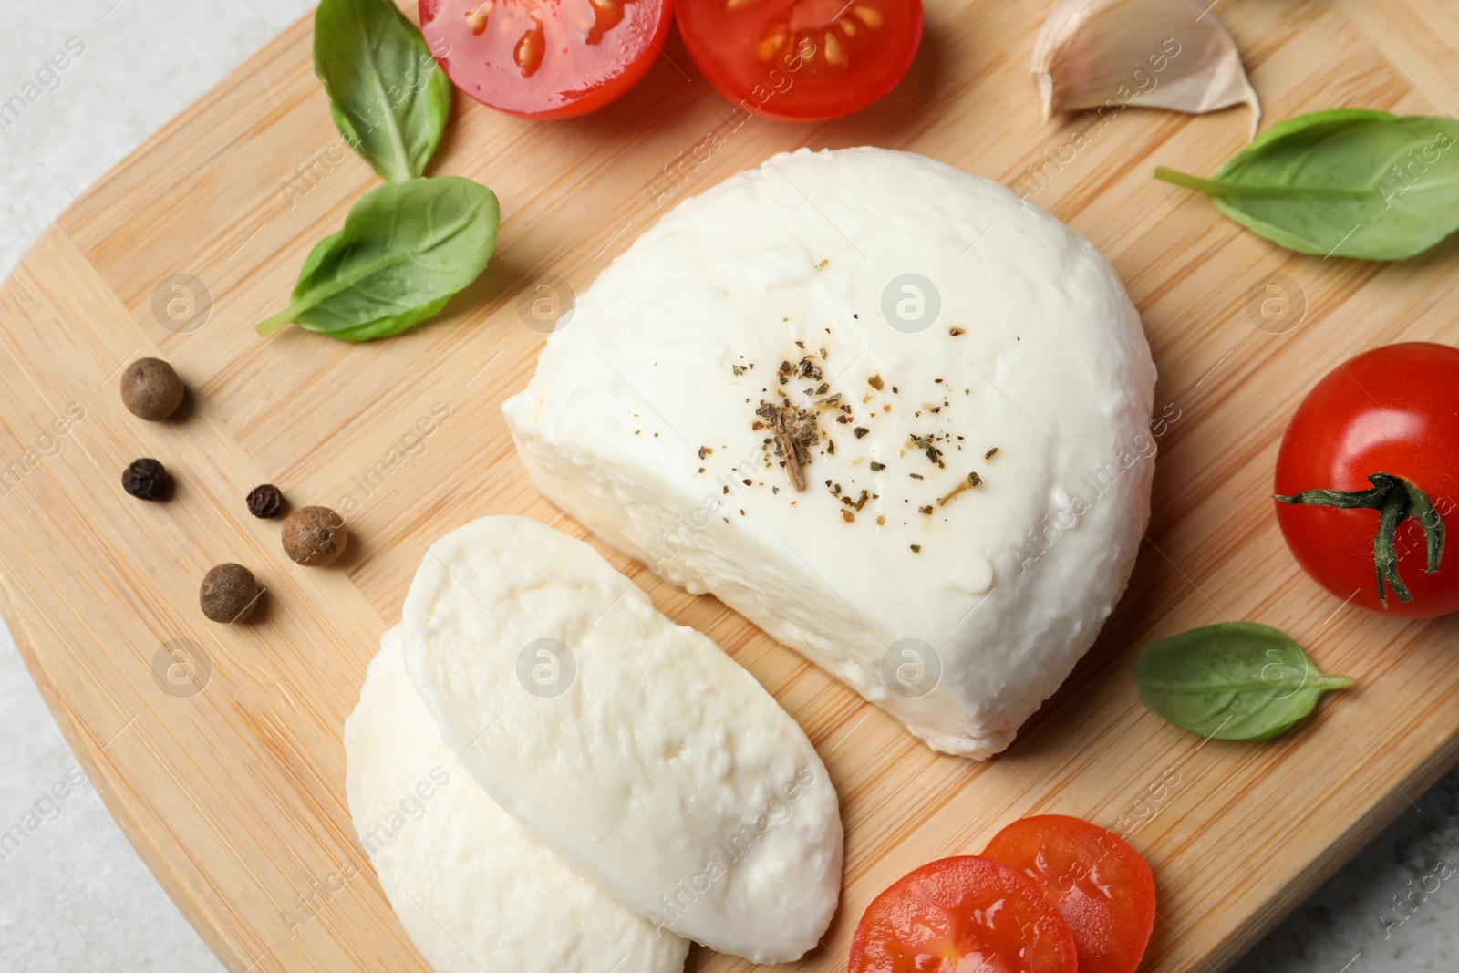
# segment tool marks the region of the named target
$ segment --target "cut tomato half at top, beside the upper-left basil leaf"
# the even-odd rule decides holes
[[[648,71],[673,0],[420,0],[420,32],[457,88],[524,118],[603,108]]]

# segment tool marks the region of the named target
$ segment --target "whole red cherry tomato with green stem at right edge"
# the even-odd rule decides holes
[[[1277,454],[1277,521],[1335,597],[1424,619],[1459,610],[1459,349],[1405,343],[1329,372]]]

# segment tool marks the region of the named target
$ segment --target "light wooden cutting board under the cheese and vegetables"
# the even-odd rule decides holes
[[[1043,124],[1027,51],[1046,6],[932,0],[907,79],[826,124],[737,120],[677,38],[627,98],[582,120],[534,124],[458,96],[433,171],[496,190],[502,247],[441,321],[382,343],[299,330],[266,340],[251,327],[376,184],[331,127],[309,20],[36,242],[0,293],[4,617],[108,808],[225,966],[422,969],[355,840],[340,732],[430,540],[502,512],[582,532],[528,483],[498,411],[543,341],[524,295],[541,282],[582,290],[664,207],[798,146],[922,152],[1072,223],[1139,305],[1157,411],[1174,416],[1129,592],[1062,691],[986,763],[931,753],[713,598],[608,553],[748,667],[830,769],[845,893],[798,969],[843,967],[862,909],[905,871],[1056,811],[1129,831],[1154,867],[1147,970],[1217,970],[1459,757],[1459,619],[1404,623],[1339,604],[1297,569],[1266,499],[1281,430],[1320,375],[1389,341],[1459,341],[1459,247],[1392,267],[1299,257],[1150,178],[1157,163],[1212,171],[1245,143],[1243,109]],[[1459,105],[1459,12],[1443,0],[1218,12],[1269,120]],[[1271,274],[1293,303],[1262,328],[1247,303]],[[191,387],[174,422],[140,422],[120,403],[118,371],[147,354]],[[171,502],[121,492],[136,457],[174,471]],[[296,505],[355,511],[341,566],[285,559],[277,522],[244,506],[264,481]],[[251,624],[198,613],[198,581],[225,560],[268,588]],[[1226,619],[1285,629],[1358,689],[1265,744],[1202,743],[1148,715],[1135,652]],[[748,964],[696,948],[689,966]]]

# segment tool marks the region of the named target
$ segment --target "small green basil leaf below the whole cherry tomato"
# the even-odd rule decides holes
[[[1277,737],[1319,696],[1350,686],[1317,670],[1285,633],[1252,621],[1192,629],[1147,645],[1135,659],[1135,691],[1150,712],[1218,740]]]

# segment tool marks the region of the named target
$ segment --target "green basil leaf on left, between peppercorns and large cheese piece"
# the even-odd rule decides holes
[[[309,252],[289,306],[258,334],[290,321],[344,341],[400,334],[481,274],[499,222],[496,195],[471,179],[387,182]]]

